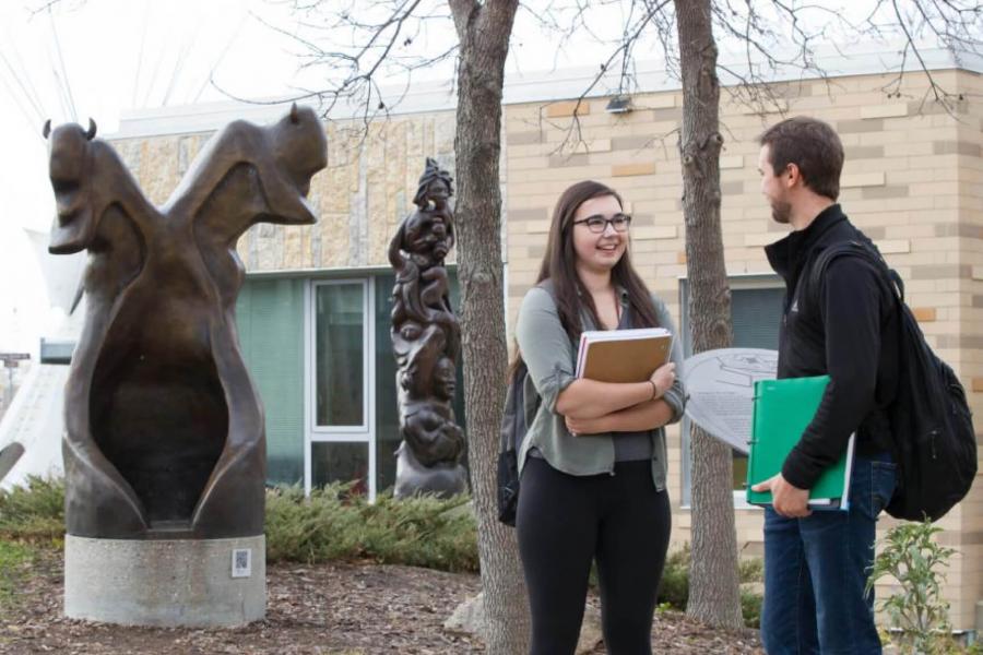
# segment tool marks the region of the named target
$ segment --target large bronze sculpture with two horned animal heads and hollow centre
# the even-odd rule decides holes
[[[87,313],[66,391],[66,524],[108,539],[261,535],[263,410],[242,361],[235,247],[259,222],[316,222],[316,114],[236,121],[159,209],[96,127],[51,131],[49,250],[87,249]]]

